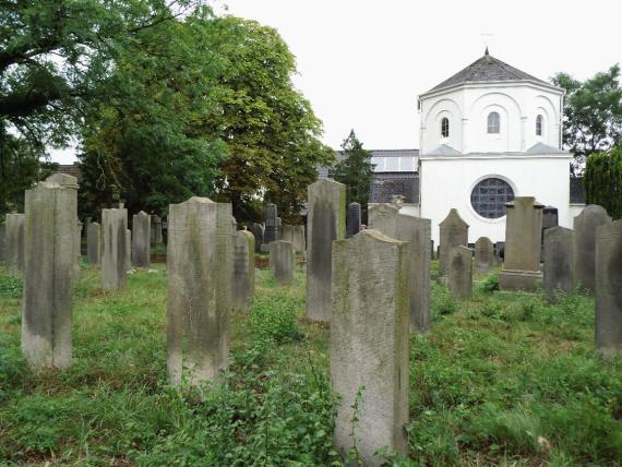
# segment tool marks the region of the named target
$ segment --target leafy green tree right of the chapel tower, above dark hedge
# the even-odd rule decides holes
[[[584,82],[558,73],[553,84],[566,91],[563,142],[582,164],[596,152],[622,143],[620,65]]]

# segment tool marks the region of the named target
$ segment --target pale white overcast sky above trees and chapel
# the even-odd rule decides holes
[[[585,80],[622,63],[622,2],[591,0],[215,0],[218,14],[275,27],[297,58],[295,86],[339,148],[419,147],[417,96],[483,55],[542,80]],[[57,152],[62,164],[73,151]]]

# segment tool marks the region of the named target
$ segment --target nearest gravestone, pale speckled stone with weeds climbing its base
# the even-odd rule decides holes
[[[344,456],[356,443],[366,466],[383,465],[382,447],[408,452],[407,254],[406,243],[376,230],[333,242],[333,440]]]

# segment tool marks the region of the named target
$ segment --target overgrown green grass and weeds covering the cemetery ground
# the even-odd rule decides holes
[[[433,284],[432,327],[410,336],[410,459],[395,464],[620,465],[622,359],[594,351],[594,299],[494,285],[478,275],[455,300]],[[0,270],[0,464],[342,465],[330,328],[304,320],[300,271],[292,286],[259,273],[231,320],[229,371],[203,391],[167,383],[162,264],[119,292],[83,265],[64,372],[26,368],[21,287]]]

